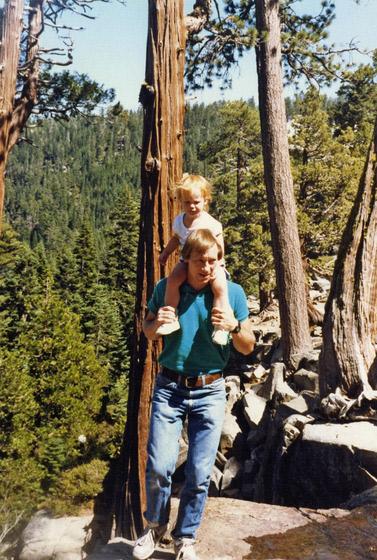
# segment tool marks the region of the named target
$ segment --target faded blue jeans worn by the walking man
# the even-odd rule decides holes
[[[186,389],[158,375],[153,394],[146,470],[150,523],[169,520],[171,478],[179,452],[183,422],[188,419],[188,456],[173,537],[195,538],[208,494],[225,413],[225,384],[220,378]]]

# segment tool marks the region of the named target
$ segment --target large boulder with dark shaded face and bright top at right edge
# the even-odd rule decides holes
[[[333,507],[375,486],[377,426],[369,422],[306,424],[285,459],[283,499]]]

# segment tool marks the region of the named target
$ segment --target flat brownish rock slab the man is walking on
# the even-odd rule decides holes
[[[172,500],[172,520],[177,500]],[[377,507],[310,510],[209,498],[196,551],[203,560],[372,560]],[[132,543],[117,538],[88,560],[131,560]],[[151,560],[173,558],[159,548]]]

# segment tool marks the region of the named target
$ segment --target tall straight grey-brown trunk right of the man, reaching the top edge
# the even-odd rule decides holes
[[[288,367],[294,369],[300,357],[311,349],[311,340],[289,160],[278,0],[257,0],[256,22],[259,33],[256,55],[264,176],[283,353]]]

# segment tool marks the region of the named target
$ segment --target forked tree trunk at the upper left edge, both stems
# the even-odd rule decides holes
[[[23,88],[16,99],[23,0],[6,0],[0,44],[0,227],[4,210],[4,173],[8,155],[37,101],[39,35],[43,29],[43,0],[29,3],[27,47]]]

